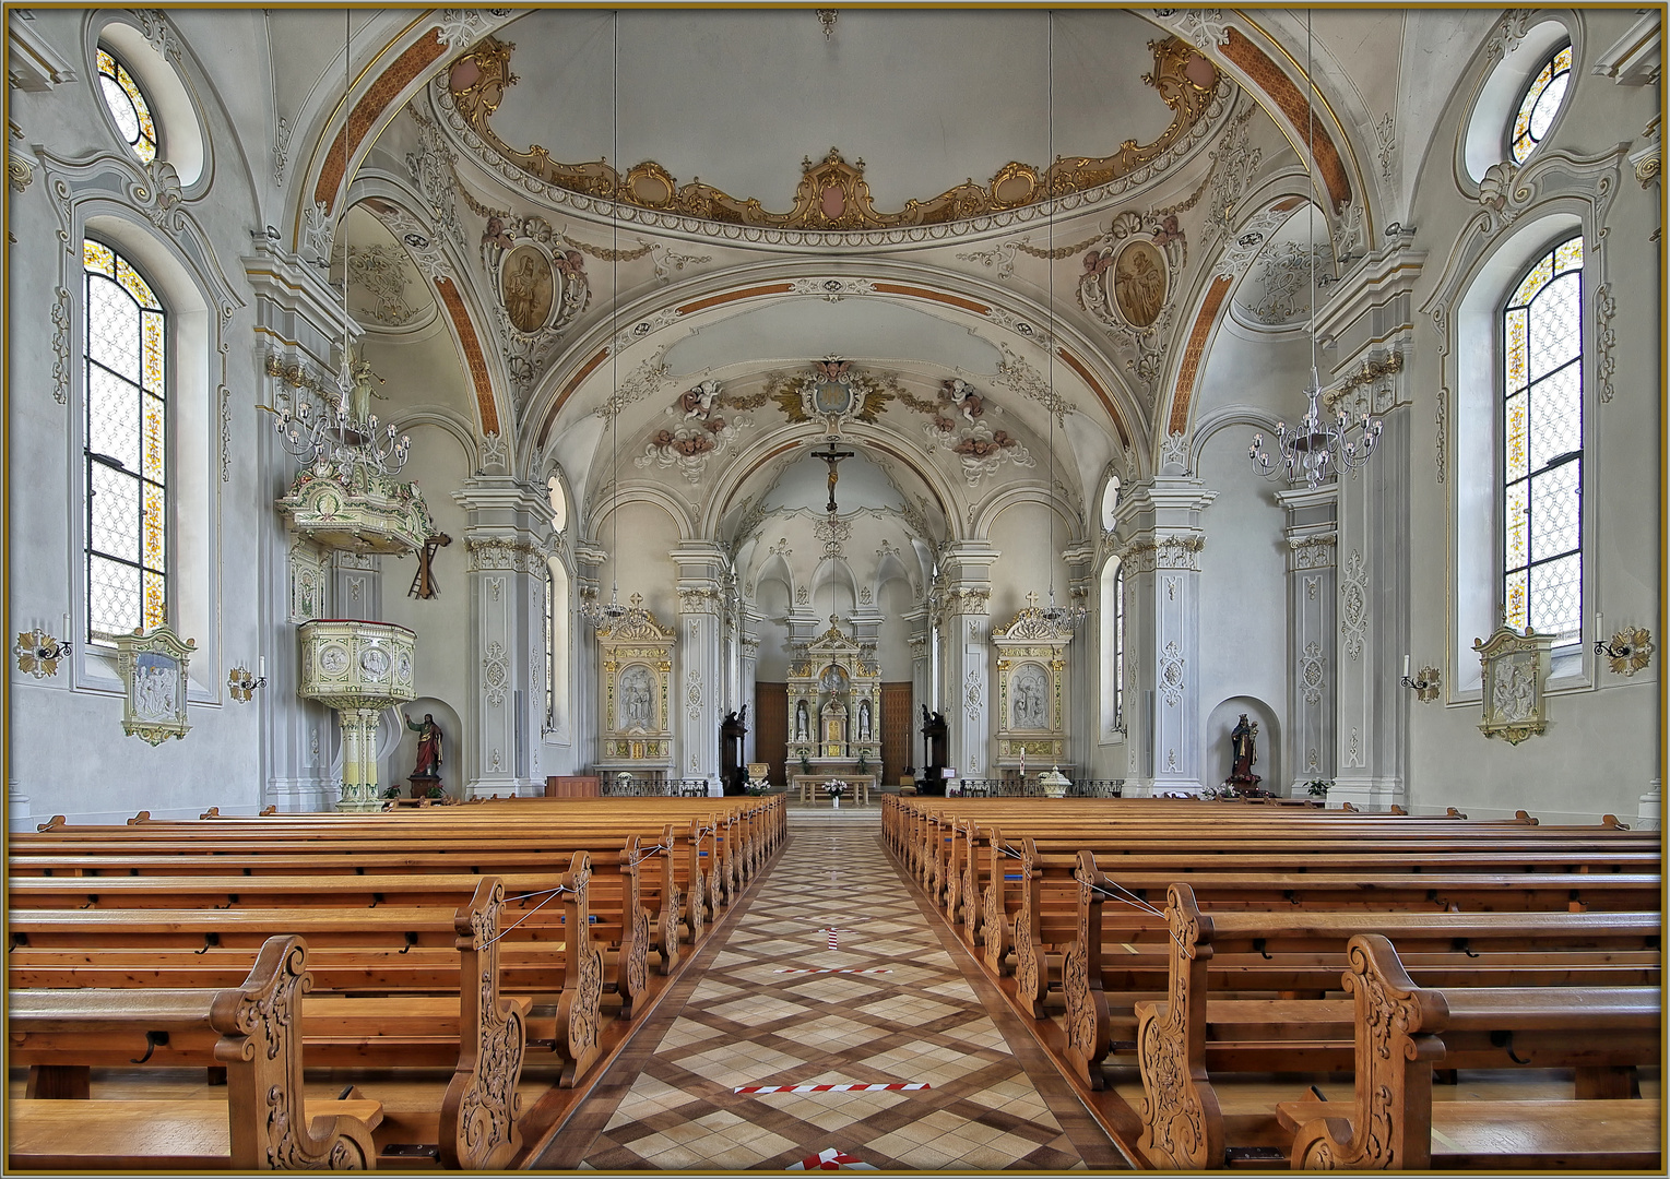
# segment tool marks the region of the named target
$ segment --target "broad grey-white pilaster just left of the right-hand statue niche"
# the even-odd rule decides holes
[[[1126,645],[1136,650],[1142,716],[1136,782],[1126,793],[1199,793],[1201,780],[1201,513],[1217,498],[1199,479],[1156,476],[1121,498]]]

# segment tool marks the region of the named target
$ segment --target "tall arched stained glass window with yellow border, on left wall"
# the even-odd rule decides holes
[[[82,244],[87,332],[87,633],[169,618],[167,312],[109,245]]]

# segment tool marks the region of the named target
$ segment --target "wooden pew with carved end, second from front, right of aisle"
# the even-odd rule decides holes
[[[1526,985],[1545,985],[1550,974],[1573,984],[1607,977],[1618,955],[1658,954],[1662,917],[1643,913],[1202,913],[1189,885],[1172,885],[1169,925],[1169,985],[1162,1002],[1137,1004],[1137,1064],[1142,1070],[1142,1137],[1139,1149],[1157,1167],[1217,1169],[1231,1127],[1219,1112],[1209,1072],[1274,1072],[1349,1067],[1349,1004],[1328,999],[1231,999],[1216,990],[1316,992],[1318,970],[1336,974],[1356,934],[1378,932],[1406,947],[1413,969],[1433,985],[1496,982],[1503,969]],[[1498,960],[1500,959],[1500,960]],[[1264,977],[1234,980],[1227,972],[1252,967]],[[1657,989],[1635,989],[1633,1000],[1655,999]],[[1212,1035],[1212,1029],[1217,1035]],[[1216,1050],[1214,1050],[1216,1049]],[[1476,1034],[1450,1045],[1453,1067],[1576,1067],[1578,1096],[1610,1096],[1618,1067],[1657,1060],[1658,1032],[1622,1047],[1590,1047],[1563,1039],[1535,1037],[1518,1044],[1491,1042]],[[1585,1075],[1593,1087],[1586,1087]],[[1269,1131],[1271,1117],[1247,1117],[1241,1132]]]

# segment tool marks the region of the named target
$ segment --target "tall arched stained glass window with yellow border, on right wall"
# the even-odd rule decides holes
[[[1503,311],[1501,613],[1583,631],[1583,239],[1543,254]]]

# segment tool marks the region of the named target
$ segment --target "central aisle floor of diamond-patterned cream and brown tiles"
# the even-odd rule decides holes
[[[962,972],[872,815],[793,817],[740,920],[681,980],[688,999],[668,994],[541,1167],[782,1171],[827,1151],[882,1169],[1126,1166],[1000,997]]]

